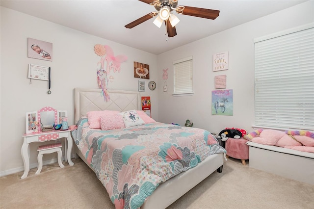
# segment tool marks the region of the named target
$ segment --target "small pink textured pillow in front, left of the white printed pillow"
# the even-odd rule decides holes
[[[102,131],[125,128],[122,115],[120,114],[100,116],[100,125]]]

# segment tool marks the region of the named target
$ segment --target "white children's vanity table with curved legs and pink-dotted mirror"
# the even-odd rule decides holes
[[[69,165],[74,165],[71,160],[72,153],[72,137],[71,130],[52,130],[52,131],[42,131],[40,124],[45,121],[48,124],[61,124],[62,119],[67,117],[67,112],[62,110],[56,110],[52,107],[43,107],[38,111],[27,112],[26,113],[26,133],[23,134],[23,145],[21,149],[21,154],[24,162],[24,174],[21,179],[25,179],[29,172],[29,144],[32,142],[45,142],[54,141],[60,138],[66,138],[64,140],[65,147],[65,161],[69,162]]]

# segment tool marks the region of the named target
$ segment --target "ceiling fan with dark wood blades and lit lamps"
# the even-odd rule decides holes
[[[179,19],[171,13],[175,10],[178,14],[190,15],[194,17],[201,17],[214,20],[219,16],[219,10],[198,8],[192,6],[178,6],[178,0],[139,0],[144,3],[148,3],[155,7],[157,12],[151,12],[147,15],[144,15],[141,18],[129,23],[126,25],[126,28],[135,27],[145,21],[157,16],[154,20],[154,24],[160,28],[162,22],[165,22],[167,33],[169,37],[177,35],[176,25],[179,23]]]

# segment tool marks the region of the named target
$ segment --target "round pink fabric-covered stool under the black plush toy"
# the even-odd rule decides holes
[[[225,145],[227,156],[241,159],[242,164],[246,165],[245,160],[249,159],[249,146],[246,142],[247,140],[244,138],[234,139],[229,137]]]

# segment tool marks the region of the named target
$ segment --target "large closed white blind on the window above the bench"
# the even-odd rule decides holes
[[[255,126],[314,130],[314,28],[255,47]]]

